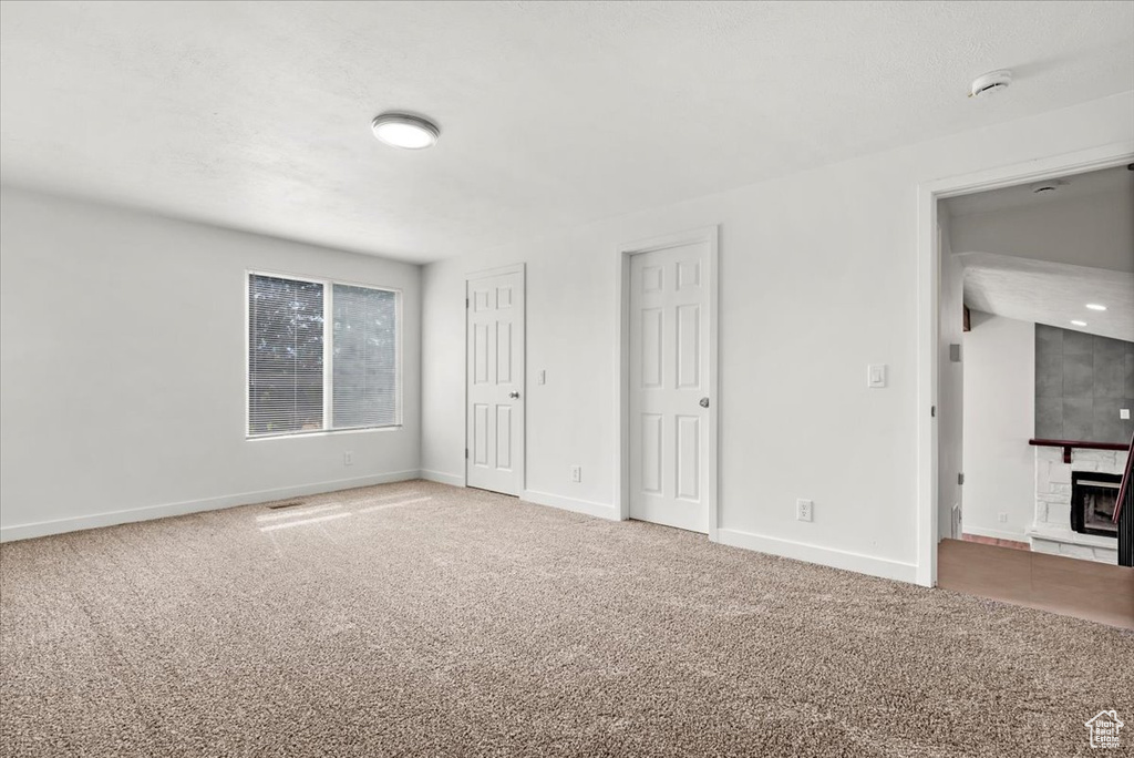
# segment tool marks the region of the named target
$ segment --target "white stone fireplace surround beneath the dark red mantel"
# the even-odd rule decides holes
[[[1064,463],[1061,447],[1035,448],[1035,521],[1027,536],[1036,553],[1065,555],[1099,563],[1118,563],[1118,540],[1080,534],[1070,528],[1070,473],[1095,471],[1122,474],[1125,450],[1073,447],[1072,462]]]

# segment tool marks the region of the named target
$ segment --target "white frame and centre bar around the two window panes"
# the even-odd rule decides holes
[[[291,281],[304,281],[323,286],[323,428],[308,429],[306,431],[286,431],[274,435],[252,433],[252,277],[272,277],[276,279],[290,279]],[[376,289],[380,292],[393,293],[395,325],[393,331],[393,377],[395,377],[395,421],[389,424],[373,427],[347,427],[345,429],[332,429],[335,421],[335,285],[347,287],[359,287],[363,289]],[[272,271],[266,269],[245,269],[244,271],[244,439],[245,441],[257,441],[262,439],[289,439],[293,437],[316,437],[321,435],[347,435],[374,431],[397,431],[403,428],[403,292],[399,287],[376,286],[350,279],[336,279],[329,277],[313,277],[305,273],[289,273],[285,271]]]

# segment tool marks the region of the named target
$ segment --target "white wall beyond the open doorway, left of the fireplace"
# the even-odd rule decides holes
[[[1027,444],[1035,426],[1035,325],[980,311],[971,323],[964,530],[1026,542],[1035,516],[1035,448]]]

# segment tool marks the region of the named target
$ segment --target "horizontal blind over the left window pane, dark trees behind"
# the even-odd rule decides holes
[[[248,277],[248,435],[323,428],[323,285]]]

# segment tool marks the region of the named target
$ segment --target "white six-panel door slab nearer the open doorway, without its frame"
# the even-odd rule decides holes
[[[629,515],[709,530],[708,242],[629,266]]]

